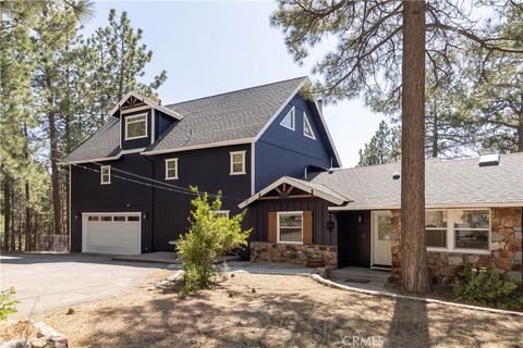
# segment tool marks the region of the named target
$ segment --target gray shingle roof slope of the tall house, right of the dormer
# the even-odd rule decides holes
[[[183,115],[146,151],[254,138],[306,77],[166,105]]]

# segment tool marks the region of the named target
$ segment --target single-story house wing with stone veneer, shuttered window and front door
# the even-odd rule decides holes
[[[434,281],[466,262],[522,277],[523,153],[426,161],[425,236]],[[391,270],[401,256],[401,164],[283,176],[248,208],[253,261]]]

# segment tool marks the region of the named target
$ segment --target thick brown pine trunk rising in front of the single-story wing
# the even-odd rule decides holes
[[[401,107],[401,282],[425,294],[425,1],[403,1]]]

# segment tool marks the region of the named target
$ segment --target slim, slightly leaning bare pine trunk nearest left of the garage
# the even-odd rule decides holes
[[[46,83],[48,91],[52,88],[49,72],[46,72]],[[58,134],[57,124],[53,111],[53,97],[49,92],[47,98],[49,110],[47,111],[47,121],[49,123],[49,141],[50,141],[50,158],[51,158],[51,189],[52,189],[52,211],[53,211],[53,227],[54,234],[62,232],[61,217],[61,202],[60,202],[60,177],[58,172]]]

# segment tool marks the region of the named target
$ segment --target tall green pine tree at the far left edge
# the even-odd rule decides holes
[[[27,125],[34,125],[31,112],[31,78],[34,71],[34,47],[29,40],[28,23],[34,9],[26,2],[0,3],[0,174],[2,188],[3,248],[14,244],[14,196],[17,183],[27,185]],[[35,5],[38,8],[38,5]],[[28,199],[29,192],[26,192]],[[28,202],[25,203],[26,208]],[[20,209],[20,208],[19,208]]]

